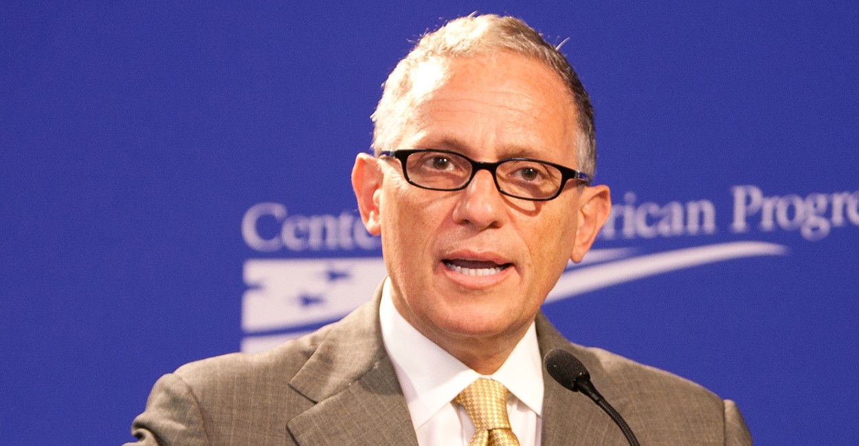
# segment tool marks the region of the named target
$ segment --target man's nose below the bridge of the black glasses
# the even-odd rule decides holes
[[[454,208],[454,221],[478,230],[502,226],[507,221],[507,203],[495,185],[492,174],[478,171],[466,189],[460,190]]]

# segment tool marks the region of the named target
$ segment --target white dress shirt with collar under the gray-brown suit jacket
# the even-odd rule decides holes
[[[412,327],[393,306],[386,280],[379,307],[382,341],[393,362],[420,446],[466,446],[474,425],[451,401],[478,377],[504,384],[510,425],[521,446],[539,446],[543,410],[543,369],[534,324],[501,368],[480,375]]]

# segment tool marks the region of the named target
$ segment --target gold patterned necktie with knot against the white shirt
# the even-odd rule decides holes
[[[519,446],[507,418],[507,388],[497,381],[478,378],[454,402],[466,409],[474,423],[468,446]]]

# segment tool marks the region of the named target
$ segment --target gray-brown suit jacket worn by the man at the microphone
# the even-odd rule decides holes
[[[414,445],[381,341],[379,296],[311,335],[263,353],[183,365],[155,383],[131,432],[144,445]],[[751,444],[732,401],[604,350],[570,344],[540,314],[541,353],[562,347],[643,445]],[[431,366],[431,365],[430,365]],[[627,444],[600,407],[544,373],[543,446]]]

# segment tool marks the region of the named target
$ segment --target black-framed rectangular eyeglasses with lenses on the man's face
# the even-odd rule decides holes
[[[557,197],[564,184],[590,184],[588,174],[549,161],[507,158],[494,163],[475,161],[450,150],[415,148],[389,150],[380,156],[396,158],[405,180],[429,190],[462,190],[480,170],[489,171],[495,187],[506,196],[545,202]]]

